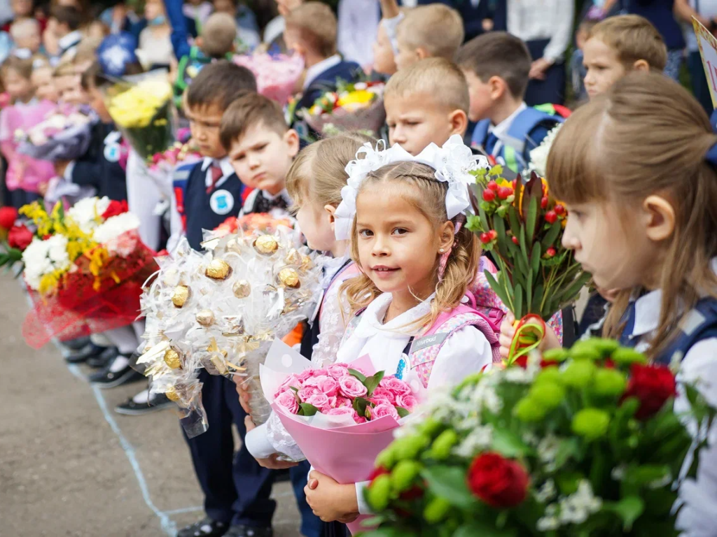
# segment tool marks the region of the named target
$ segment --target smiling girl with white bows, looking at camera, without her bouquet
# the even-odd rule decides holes
[[[467,185],[479,165],[459,136],[415,157],[366,145],[348,165],[336,238],[350,239],[361,274],[343,284],[353,317],[337,362],[369,355],[377,371],[412,372],[434,390],[499,359],[494,329],[467,292],[480,259],[464,226]],[[307,500],[323,521],[352,521],[368,514],[362,487],[313,471]]]

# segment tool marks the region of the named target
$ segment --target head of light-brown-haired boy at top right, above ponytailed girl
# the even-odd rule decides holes
[[[612,16],[593,26],[583,54],[585,89],[591,99],[631,71],[663,72],[668,61],[660,32],[639,15]]]

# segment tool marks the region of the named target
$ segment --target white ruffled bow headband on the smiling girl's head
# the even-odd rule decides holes
[[[470,147],[463,143],[462,137],[452,135],[445,142],[443,147],[431,143],[417,156],[413,156],[396,144],[389,149],[384,149],[383,140],[371,147],[370,143],[364,144],[356,152],[356,160],[351,160],[346,165],[348,182],[341,189],[341,204],[336,208],[336,239],[346,241],[351,238],[351,225],[353,217],[356,216],[356,195],[366,175],[385,166],[386,164],[399,163],[403,161],[427,164],[436,170],[436,179],[448,183],[446,194],[446,213],[449,219],[459,213],[465,213],[470,207],[467,185],[475,183],[475,177],[470,175],[471,170],[488,168],[488,160],[485,157],[473,155]],[[361,158],[361,155],[364,155]]]

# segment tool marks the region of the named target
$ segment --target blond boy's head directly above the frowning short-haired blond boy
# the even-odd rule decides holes
[[[443,4],[409,9],[396,29],[396,67],[405,69],[424,58],[453,59],[464,37],[455,9]]]

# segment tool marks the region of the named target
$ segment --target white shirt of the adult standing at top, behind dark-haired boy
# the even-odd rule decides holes
[[[523,41],[550,39],[543,58],[559,62],[572,38],[574,4],[573,0],[510,0],[508,33]]]

